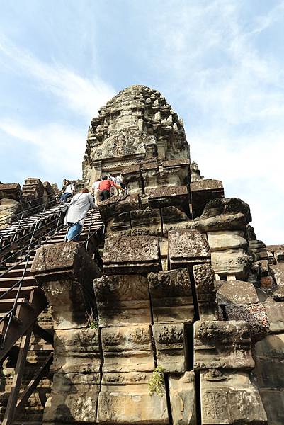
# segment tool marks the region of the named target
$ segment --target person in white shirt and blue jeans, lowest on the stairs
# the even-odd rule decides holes
[[[67,241],[79,241],[87,212],[90,208],[98,208],[93,202],[93,197],[88,189],[73,196],[64,219],[64,224],[69,226]]]

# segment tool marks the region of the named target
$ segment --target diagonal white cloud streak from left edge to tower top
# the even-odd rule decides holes
[[[1,33],[0,53],[8,58],[13,68],[24,72],[27,77],[33,77],[42,91],[56,96],[64,108],[72,109],[89,119],[115,94],[113,87],[98,75],[86,79],[62,64],[42,62],[28,50],[13,45]]]

